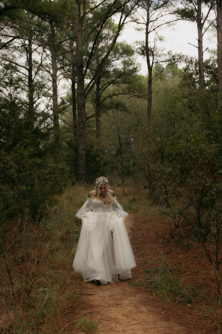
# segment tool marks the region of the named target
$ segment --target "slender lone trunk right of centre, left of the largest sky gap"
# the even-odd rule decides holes
[[[147,127],[148,131],[151,129],[151,113],[152,113],[152,72],[153,72],[153,62],[150,60],[150,49],[148,45],[148,37],[149,37],[149,23],[150,23],[150,0],[147,0],[147,8],[146,8],[146,35],[145,35],[145,46],[146,46],[146,64],[148,68],[148,99],[147,99]]]

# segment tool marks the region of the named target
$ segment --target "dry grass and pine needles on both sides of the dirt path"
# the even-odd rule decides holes
[[[48,208],[47,218],[40,224],[27,221],[26,230],[19,221],[8,221],[6,226],[1,226],[0,333],[96,332],[96,321],[85,317],[85,305],[80,301],[84,283],[71,268],[80,233],[76,211],[85,202],[89,190],[91,187],[70,187],[57,198],[56,205]],[[132,243],[137,256],[132,283],[137,285],[137,289],[150,290],[153,287],[145,285],[147,279],[152,280],[154,288],[164,294],[164,299],[169,298],[170,303],[160,303],[160,298],[153,291],[147,292],[147,298],[153,305],[157,302],[158,308],[162,305],[166,321],[181,320],[183,324],[187,323],[190,333],[194,333],[194,328],[198,330],[196,333],[213,333],[214,328],[221,333],[221,308],[211,297],[215,295],[212,269],[200,248],[195,248],[198,245],[191,244],[191,248],[187,249],[179,233],[169,237],[167,218],[160,215],[163,207],[148,197],[146,189],[130,189],[125,194],[120,187],[114,190],[123,208],[137,213],[132,228]],[[186,305],[173,302],[172,293],[165,289],[166,280],[163,281],[155,269],[162,256],[171,268],[183,268],[180,275],[185,286],[201,291],[201,298],[191,296],[191,310]],[[167,279],[174,282],[174,287],[174,272],[173,278],[168,271],[166,273]],[[139,288],[138,283],[143,288]],[[181,282],[176,280],[176,283],[181,290]],[[175,294],[173,290],[173,296]],[[182,294],[182,297],[187,298],[187,294]],[[185,303],[187,301],[189,299]],[[198,326],[196,322],[202,325]]]

